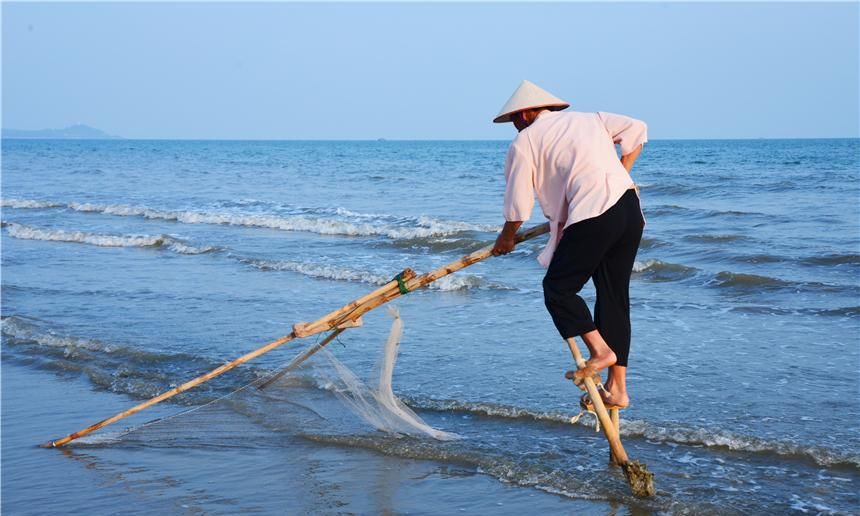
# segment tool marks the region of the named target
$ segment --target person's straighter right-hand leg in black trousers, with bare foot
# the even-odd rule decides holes
[[[594,323],[606,343],[616,355],[616,363],[609,369],[605,388],[609,392],[604,401],[627,406],[627,360],[630,354],[630,275],[642,238],[642,215],[639,200],[632,193],[621,200],[626,221],[624,233],[598,264],[592,276],[597,292],[594,306]]]

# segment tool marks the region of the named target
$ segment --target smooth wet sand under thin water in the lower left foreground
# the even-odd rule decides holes
[[[607,514],[618,509],[506,485],[456,464],[295,440],[254,442],[267,432],[255,432],[250,422],[249,442],[233,446],[156,441],[45,450],[38,443],[135,400],[9,360],[2,364],[2,387],[4,514],[115,514],[118,508],[126,514]],[[147,417],[178,410],[160,406]]]

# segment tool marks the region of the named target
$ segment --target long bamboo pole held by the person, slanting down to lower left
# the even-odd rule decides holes
[[[525,240],[535,238],[537,236],[543,235],[544,233],[546,233],[548,231],[549,231],[549,224],[548,223],[544,223],[544,224],[541,224],[539,226],[532,227],[526,231],[518,233],[516,236],[516,242],[519,243],[519,242],[523,242]],[[179,387],[175,387],[173,389],[170,389],[169,391],[166,391],[162,394],[159,394],[158,396],[156,396],[152,399],[149,399],[149,400],[147,400],[147,401],[145,401],[139,405],[136,405],[136,406],[124,411],[124,412],[120,412],[119,414],[111,416],[107,419],[103,419],[103,420],[99,421],[98,423],[95,423],[93,425],[88,426],[87,428],[84,428],[83,430],[79,430],[77,432],[71,433],[71,434],[63,437],[62,439],[49,441],[45,444],[42,444],[41,446],[43,448],[57,448],[57,447],[63,446],[65,444],[69,443],[70,441],[74,441],[75,439],[83,437],[89,433],[95,432],[96,430],[98,430],[100,428],[104,428],[104,427],[106,427],[112,423],[116,423],[120,419],[124,419],[124,418],[131,416],[133,414],[137,414],[141,410],[144,410],[148,407],[151,407],[152,405],[155,405],[156,403],[160,403],[160,402],[162,402],[168,398],[172,398],[173,396],[176,396],[177,394],[180,394],[180,393],[183,393],[189,389],[192,389],[192,388],[200,385],[201,383],[209,381],[212,378],[215,378],[216,376],[222,375],[222,374],[226,373],[227,371],[229,371],[235,367],[238,367],[238,366],[244,364],[245,362],[248,362],[249,360],[253,360],[254,358],[256,358],[260,355],[268,353],[269,351],[272,351],[273,349],[275,349],[275,348],[277,348],[283,344],[286,344],[287,342],[289,342],[295,338],[304,338],[304,337],[308,337],[310,335],[314,335],[314,334],[317,334],[317,333],[320,333],[323,331],[330,330],[332,328],[337,328],[340,326],[348,325],[350,322],[356,321],[363,314],[369,312],[370,310],[373,310],[374,308],[376,308],[382,304],[385,304],[385,303],[391,301],[392,299],[395,299],[395,298],[397,298],[397,297],[399,297],[399,296],[401,296],[407,292],[410,292],[412,290],[427,286],[430,283],[438,280],[439,278],[441,278],[443,276],[446,276],[448,274],[451,274],[452,272],[456,272],[456,271],[458,271],[464,267],[468,267],[469,265],[472,265],[472,264],[477,263],[481,260],[489,258],[490,256],[492,256],[492,250],[493,250],[493,246],[488,245],[488,246],[486,246],[486,247],[484,247],[478,251],[475,251],[474,253],[468,254],[468,255],[460,258],[459,260],[451,262],[448,265],[440,267],[434,271],[428,272],[426,274],[422,274],[421,276],[418,276],[418,277],[415,277],[415,273],[411,269],[405,269],[403,272],[398,274],[398,277],[400,278],[399,280],[397,280],[397,279],[392,280],[392,281],[386,283],[385,285],[383,285],[382,287],[374,290],[373,292],[370,292],[369,294],[367,294],[367,295],[365,295],[359,299],[356,299],[355,301],[353,301],[351,303],[344,305],[343,307],[339,308],[338,310],[335,310],[335,311],[323,316],[322,318],[320,318],[320,319],[318,319],[312,323],[297,324],[293,327],[293,332],[290,333],[289,335],[285,336],[285,337],[281,337],[278,340],[272,341],[272,342],[266,344],[265,346],[255,350],[255,351],[252,351],[250,353],[242,355],[241,357],[237,358],[236,360],[233,360],[232,362],[224,364],[224,365],[222,365],[222,366],[220,366],[220,367],[218,367],[218,368],[216,368],[216,369],[214,369],[214,370],[212,370],[212,371],[210,371],[204,375],[201,375],[201,376],[198,376],[197,378],[194,378],[193,380],[189,380],[188,382],[183,383]],[[311,349],[313,349],[313,348],[311,348]],[[317,349],[315,349],[312,352],[305,351],[304,353],[302,353],[302,355],[307,355],[304,357],[303,361],[306,360],[308,357],[310,357],[310,355],[312,355],[316,351],[319,351],[320,349],[322,349],[321,346],[317,347]]]

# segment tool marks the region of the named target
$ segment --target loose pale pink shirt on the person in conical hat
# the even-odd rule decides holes
[[[549,266],[564,228],[603,214],[633,188],[615,144],[626,155],[647,141],[640,120],[576,111],[544,111],[514,138],[505,160],[504,216],[528,220],[537,193],[550,221],[541,265]]]

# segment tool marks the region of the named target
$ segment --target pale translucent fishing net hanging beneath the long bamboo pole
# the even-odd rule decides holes
[[[275,382],[270,380],[278,372],[265,371],[238,388],[234,384],[225,394],[179,413],[124,430],[97,432],[78,442],[105,445],[122,441],[150,446],[176,441],[187,445],[225,444],[250,434],[268,440],[278,436],[359,434],[367,425],[389,434],[438,440],[458,438],[457,434],[428,425],[394,394],[392,377],[403,322],[396,308],[390,307],[389,313],[394,321],[377,367],[367,382],[326,348],[321,348],[317,360],[309,360],[302,369],[291,371]]]

